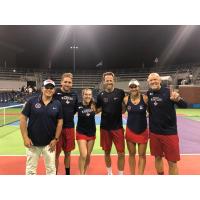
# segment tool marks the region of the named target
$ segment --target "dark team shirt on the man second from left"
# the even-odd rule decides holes
[[[78,103],[78,96],[75,92],[63,92],[58,88],[54,98],[59,100],[63,109],[63,128],[74,128],[74,114]]]

